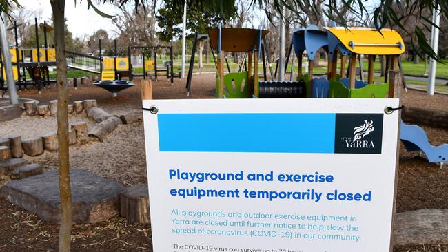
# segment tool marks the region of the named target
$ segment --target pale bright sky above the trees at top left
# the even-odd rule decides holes
[[[19,0],[19,3],[23,8],[33,10],[40,14],[42,18],[40,21],[50,20],[52,9],[50,6],[50,0]],[[106,14],[116,14],[117,10],[109,3],[96,5],[102,12]],[[65,1],[65,17],[67,18],[68,30],[73,33],[74,36],[83,37],[85,34],[91,35],[93,32],[99,29],[108,31],[110,36],[114,36],[114,25],[112,21],[107,18],[101,17],[99,14],[90,8],[87,9],[87,1],[77,0],[77,6],[74,6],[74,0]],[[39,18],[39,17],[38,17]]]

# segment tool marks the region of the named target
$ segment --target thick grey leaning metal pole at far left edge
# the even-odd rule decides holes
[[[14,83],[14,74],[12,74],[12,62],[10,48],[8,46],[8,32],[6,31],[6,15],[5,12],[1,12],[1,23],[0,23],[0,45],[1,54],[3,56],[3,65],[5,67],[6,78],[8,80],[8,92],[10,94],[11,104],[19,103],[19,98],[17,97],[16,84]],[[19,55],[17,55],[19,59]]]

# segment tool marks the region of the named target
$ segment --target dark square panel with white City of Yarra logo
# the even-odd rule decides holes
[[[334,153],[381,154],[383,114],[336,114]]]

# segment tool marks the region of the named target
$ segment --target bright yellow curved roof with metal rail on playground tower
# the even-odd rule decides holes
[[[356,54],[396,55],[405,52],[405,43],[398,32],[374,28],[325,28],[349,51]]]

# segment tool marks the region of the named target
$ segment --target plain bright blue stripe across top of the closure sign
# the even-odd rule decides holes
[[[158,114],[160,151],[334,153],[336,114]]]

